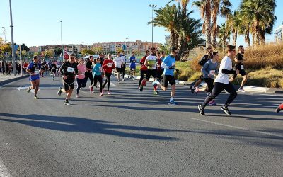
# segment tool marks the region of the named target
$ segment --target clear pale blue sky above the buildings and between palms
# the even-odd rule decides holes
[[[117,42],[136,39],[151,41],[151,17],[149,4],[165,6],[169,0],[11,0],[13,10],[14,40],[25,45],[61,44],[60,23],[62,20],[63,43]],[[200,17],[199,11],[192,15]],[[231,0],[233,9],[238,8],[240,1]],[[283,13],[279,9],[283,1],[277,0],[275,28],[283,22]],[[0,27],[6,28],[6,38],[11,41],[10,13],[8,0],[0,0]],[[222,19],[223,21],[223,19]],[[219,22],[220,23],[220,22]],[[3,28],[0,29],[0,34]],[[154,28],[154,41],[165,42],[169,33],[164,28]],[[1,36],[4,38],[4,35]],[[274,35],[267,36],[267,42]],[[243,37],[238,44],[243,43]]]

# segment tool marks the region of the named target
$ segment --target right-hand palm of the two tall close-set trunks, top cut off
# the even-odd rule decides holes
[[[218,33],[217,16],[226,17],[231,13],[232,4],[229,0],[212,0],[212,47],[216,48],[216,35]]]

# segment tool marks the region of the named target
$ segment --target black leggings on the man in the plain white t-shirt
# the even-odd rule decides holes
[[[210,93],[209,96],[207,96],[207,98],[205,98],[204,103],[202,103],[202,106],[203,107],[207,106],[207,104],[210,101],[212,101],[216,96],[219,95],[219,93],[221,93],[224,90],[226,90],[228,93],[230,93],[230,96],[229,96],[229,98],[227,99],[227,101],[224,105],[224,107],[227,108],[237,96],[237,92],[230,82],[229,82],[229,84],[223,84],[223,83],[215,82],[214,88],[212,89],[212,93]]]

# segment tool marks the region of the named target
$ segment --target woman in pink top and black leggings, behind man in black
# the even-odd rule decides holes
[[[78,71],[78,75],[76,75],[76,98],[79,98],[79,90],[86,87],[84,74],[86,72],[86,65],[84,64],[83,59],[79,60]]]

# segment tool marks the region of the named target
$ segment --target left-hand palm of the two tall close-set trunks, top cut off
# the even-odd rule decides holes
[[[197,8],[200,9],[200,16],[202,19],[204,19],[204,24],[202,25],[202,32],[205,33],[205,39],[206,39],[206,47],[211,47],[211,1],[212,0],[200,0],[200,1],[194,1],[192,3],[193,6],[197,6]]]

